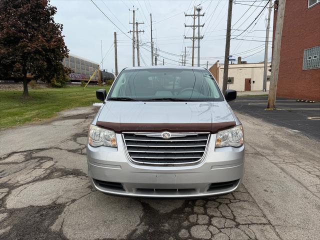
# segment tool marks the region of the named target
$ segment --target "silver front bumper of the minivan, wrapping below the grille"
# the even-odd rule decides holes
[[[201,162],[185,166],[150,166],[132,163],[125,154],[121,134],[117,148],[87,145],[88,175],[102,192],[139,197],[199,197],[224,194],[240,184],[244,145],[214,149],[211,134]]]

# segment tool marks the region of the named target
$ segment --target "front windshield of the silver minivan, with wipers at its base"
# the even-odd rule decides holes
[[[206,69],[149,68],[123,70],[107,100],[223,101]]]

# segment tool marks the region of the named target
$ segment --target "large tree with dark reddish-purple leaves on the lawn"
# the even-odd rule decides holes
[[[22,80],[24,97],[27,72],[46,82],[65,77],[68,49],[53,19],[56,7],[49,0],[0,0],[0,9],[0,77]]]

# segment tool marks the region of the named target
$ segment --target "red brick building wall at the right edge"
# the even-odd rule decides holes
[[[320,0],[285,1],[276,95],[320,100]]]

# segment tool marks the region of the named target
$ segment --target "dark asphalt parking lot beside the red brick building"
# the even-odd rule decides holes
[[[298,130],[308,137],[320,140],[320,102],[300,102],[276,98],[276,109],[265,110],[267,96],[238,96],[229,102],[232,109],[264,121]]]

